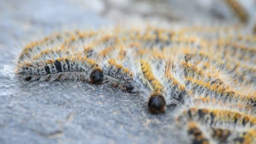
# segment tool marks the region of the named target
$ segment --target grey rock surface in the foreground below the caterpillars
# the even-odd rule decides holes
[[[152,115],[136,97],[82,82],[26,82],[0,67],[0,143],[173,141],[171,113]]]

